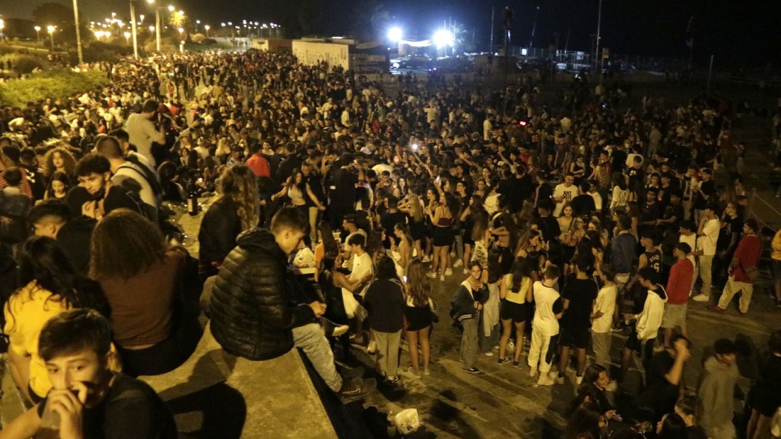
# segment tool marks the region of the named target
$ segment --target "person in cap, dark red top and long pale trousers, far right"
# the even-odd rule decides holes
[[[762,240],[757,236],[757,220],[747,219],[743,226],[743,239],[737,244],[735,255],[732,262],[729,263],[729,279],[722,291],[722,297],[719,299],[719,305],[708,307],[711,311],[724,312],[732,301],[733,296],[738,291],[743,291],[740,295],[740,306],[738,310],[740,315],[744,316],[748,312],[748,305],[751,304],[751,294],[754,292],[754,282],[757,280],[759,256],[762,253]]]

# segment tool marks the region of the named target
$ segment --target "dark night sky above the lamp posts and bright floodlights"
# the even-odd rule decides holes
[[[45,0],[0,0],[0,14],[30,18],[30,12]],[[50,0],[51,1],[51,0]],[[70,5],[71,0],[55,0]],[[299,28],[298,15],[311,10],[312,30],[318,34],[347,34],[351,29],[350,11],[369,0],[158,0],[184,9],[191,18],[219,26],[219,21],[242,19],[282,23]],[[501,10],[510,6],[515,12],[512,45],[528,45],[534,12],[540,16],[534,45],[544,47],[560,32],[559,48],[564,48],[569,30],[570,50],[590,48],[590,34],[597,29],[598,0],[385,0],[393,23],[405,29],[405,37],[430,37],[442,20],[458,20],[471,31],[476,41],[487,48],[491,5],[497,11],[497,36],[501,34]],[[79,0],[80,11],[90,20],[114,11],[129,16],[127,0]],[[152,16],[145,1],[137,3],[137,13]],[[781,2],[750,0],[603,0],[602,45],[613,53],[666,55],[686,58],[686,23],[694,16],[695,62],[707,62],[712,54],[716,62],[746,62],[765,66],[781,62]],[[416,34],[416,35],[415,35]]]

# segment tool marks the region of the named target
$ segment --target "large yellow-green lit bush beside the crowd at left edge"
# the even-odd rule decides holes
[[[24,80],[0,84],[0,105],[23,107],[27,102],[45,98],[68,98],[77,93],[95,90],[109,83],[105,72],[91,70],[75,73],[70,70],[48,70]]]

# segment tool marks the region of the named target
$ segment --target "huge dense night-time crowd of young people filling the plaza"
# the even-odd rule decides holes
[[[721,313],[740,294],[744,316],[758,279],[731,102],[630,105],[623,84],[580,81],[546,100],[530,77],[496,89],[409,73],[391,91],[256,50],[93,68],[107,87],[0,109],[3,334],[37,404],[0,437],[29,436],[52,411],[63,437],[173,437],[133,377],[192,354],[190,273],[225,352],[301,348],[343,398],[376,380],[334,352],[365,347],[389,385],[425,379],[447,310],[465,373],[495,361],[563,384],[576,354],[565,437],[735,437],[734,341],[715,341],[696,394],[683,384],[687,306]],[[196,260],[169,206],[196,215],[203,198]],[[772,259],[781,307],[781,234]],[[443,283],[455,294],[437,306]],[[781,333],[768,348],[752,439],[781,405]],[[633,362],[644,389],[623,400]]]

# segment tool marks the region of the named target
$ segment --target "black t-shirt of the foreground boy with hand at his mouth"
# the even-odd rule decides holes
[[[47,398],[38,405],[43,416]],[[176,439],[177,424],[162,399],[141,380],[118,373],[100,404],[84,409],[84,437],[90,439]]]

